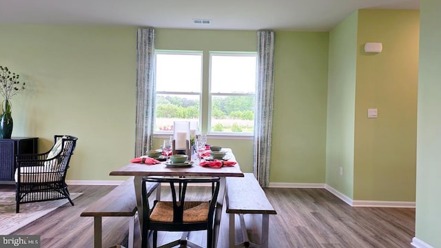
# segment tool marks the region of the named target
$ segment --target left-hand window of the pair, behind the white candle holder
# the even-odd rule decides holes
[[[156,51],[154,132],[173,130],[174,121],[198,121],[201,112],[202,53]]]

